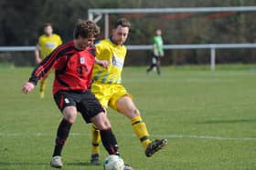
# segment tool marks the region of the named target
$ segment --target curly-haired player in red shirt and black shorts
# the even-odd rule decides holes
[[[74,38],[60,45],[34,69],[22,91],[28,94],[37,81],[55,69],[53,95],[63,119],[57,131],[56,144],[50,161],[53,167],[61,167],[61,151],[67,141],[71,125],[79,111],[87,123],[93,123],[101,130],[102,144],[110,155],[119,155],[118,145],[112,133],[112,126],[101,104],[91,94],[91,73],[94,62],[107,67],[107,61],[95,58],[93,41],[100,29],[90,20],[79,20],[74,29]]]

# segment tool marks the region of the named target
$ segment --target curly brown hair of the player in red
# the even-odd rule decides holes
[[[97,36],[100,34],[100,27],[96,25],[91,20],[82,20],[79,19],[76,27],[74,29],[74,38],[78,38],[79,36],[87,38],[91,35]]]

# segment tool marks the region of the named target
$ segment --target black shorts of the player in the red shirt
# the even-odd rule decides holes
[[[81,91],[59,91],[54,95],[54,100],[62,112],[66,106],[75,106],[86,123],[91,123],[91,117],[105,112],[100,102],[91,90]]]

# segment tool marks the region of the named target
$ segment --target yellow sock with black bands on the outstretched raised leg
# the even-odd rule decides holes
[[[133,125],[134,133],[141,140],[141,143],[145,150],[146,146],[151,143],[151,140],[149,140],[148,138],[149,134],[147,132],[146,125],[142,121],[142,117],[141,116],[133,117],[131,123]]]

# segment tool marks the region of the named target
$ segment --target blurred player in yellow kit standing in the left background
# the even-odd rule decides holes
[[[50,23],[44,25],[44,35],[40,35],[35,50],[35,60],[38,65],[45,59],[57,46],[62,44],[59,35],[53,34],[53,28]],[[47,77],[41,80],[40,83],[40,97],[45,96],[45,88],[47,85]]]

